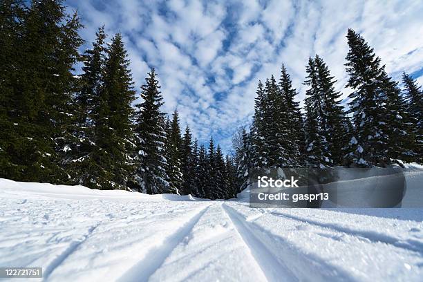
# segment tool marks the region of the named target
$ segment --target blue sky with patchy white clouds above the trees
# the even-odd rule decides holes
[[[68,0],[77,9],[88,47],[104,23],[121,32],[131,59],[136,90],[147,71],[159,75],[167,113],[178,109],[200,142],[212,135],[223,149],[238,126],[254,112],[259,79],[290,72],[298,100],[305,66],[319,54],[350,93],[344,68],[346,31],[354,28],[386,64],[395,79],[402,71],[423,84],[423,2],[288,0]]]

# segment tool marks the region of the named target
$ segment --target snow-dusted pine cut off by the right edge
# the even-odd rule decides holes
[[[402,74],[404,85],[404,97],[407,103],[407,111],[411,120],[412,131],[415,136],[413,142],[416,156],[412,160],[423,162],[423,91],[417,85],[415,79],[405,72]]]

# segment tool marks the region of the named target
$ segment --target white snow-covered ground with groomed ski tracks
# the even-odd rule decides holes
[[[423,281],[422,220],[0,179],[0,267],[43,267],[44,281]]]

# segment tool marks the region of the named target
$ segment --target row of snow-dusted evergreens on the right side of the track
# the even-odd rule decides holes
[[[353,89],[347,109],[319,55],[306,66],[304,113],[285,66],[279,81],[272,75],[259,82],[252,126],[238,133],[234,148],[243,187],[254,168],[422,163],[420,86],[403,73],[401,90],[361,35],[349,29],[347,39],[346,86]]]

